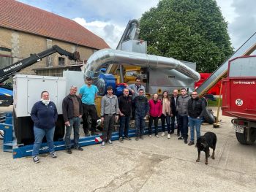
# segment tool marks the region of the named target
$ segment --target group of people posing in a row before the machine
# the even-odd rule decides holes
[[[64,142],[67,153],[72,153],[71,133],[74,130],[74,150],[82,151],[83,148],[79,146],[79,128],[80,120],[83,118],[83,131],[86,137],[97,135],[97,110],[95,107],[95,98],[98,89],[92,85],[91,77],[86,77],[86,85],[80,88],[79,96],[76,95],[78,88],[72,86],[62,102],[62,111],[64,124],[66,127]],[[129,96],[129,92],[132,96]],[[167,131],[167,138],[174,134],[176,127],[175,120],[177,119],[177,136],[178,139],[184,139],[187,144],[188,139],[188,123],[190,126],[190,142],[189,145],[194,145],[195,130],[197,138],[200,137],[200,125],[202,122],[203,113],[205,110],[205,103],[199,99],[197,92],[193,92],[192,96],[187,95],[185,88],[181,89],[181,96],[178,96],[178,90],[173,90],[173,95],[169,97],[167,91],[162,93],[162,98],[154,93],[152,99],[148,101],[145,96],[145,88],[141,85],[140,78],[136,78],[135,84],[124,88],[123,95],[117,97],[113,94],[113,88],[108,86],[107,94],[102,97],[100,118],[103,123],[102,130],[102,145],[105,147],[106,143],[112,145],[111,137],[115,122],[120,123],[119,127],[119,141],[131,140],[129,138],[129,123],[131,116],[135,118],[135,140],[143,139],[144,129],[146,126],[146,116],[148,116],[148,136],[152,135],[152,124],[154,121],[154,135],[158,135],[158,121],[161,119],[162,134],[165,136]],[[56,152],[53,145],[53,136],[55,131],[55,123],[58,118],[56,105],[50,101],[48,91],[42,91],[41,100],[38,101],[31,110],[31,119],[34,121],[34,146],[32,158],[34,163],[39,163],[39,147],[42,139],[45,136],[48,143],[50,157],[56,158]],[[89,125],[89,118],[91,118],[91,125]],[[167,125],[167,129],[166,126]]]

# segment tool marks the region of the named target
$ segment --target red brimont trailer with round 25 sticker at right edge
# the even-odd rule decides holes
[[[230,60],[222,83],[222,115],[235,117],[231,122],[238,142],[252,145],[256,140],[256,55]]]

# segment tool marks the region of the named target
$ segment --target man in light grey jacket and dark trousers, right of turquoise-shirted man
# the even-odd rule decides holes
[[[108,86],[107,94],[102,97],[100,111],[100,117],[103,122],[102,147],[105,147],[106,142],[110,145],[113,144],[111,142],[111,137],[115,120],[118,120],[118,111],[118,99],[113,95],[113,88]]]

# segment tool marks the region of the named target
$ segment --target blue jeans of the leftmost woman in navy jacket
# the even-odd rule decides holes
[[[55,126],[49,129],[38,128],[34,126],[34,145],[33,145],[33,152],[32,152],[33,157],[39,154],[39,148],[41,147],[42,139],[44,137],[46,137],[49,152],[51,153],[54,151],[54,144],[53,144],[54,131],[55,131]]]

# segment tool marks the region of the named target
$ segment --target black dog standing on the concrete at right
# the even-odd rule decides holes
[[[216,147],[216,143],[217,143],[217,136],[216,134],[212,133],[212,132],[206,132],[206,134],[204,134],[203,136],[199,137],[197,139],[197,151],[198,151],[198,158],[197,158],[197,162],[200,161],[200,152],[203,150],[206,153],[206,162],[205,164],[208,164],[208,157],[210,156],[210,149],[209,147],[211,147],[213,149],[211,158],[214,159],[214,151],[215,151],[215,147]]]

